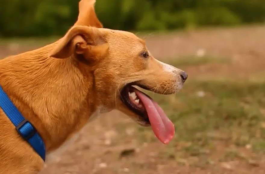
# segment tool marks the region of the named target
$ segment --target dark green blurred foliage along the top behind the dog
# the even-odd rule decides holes
[[[76,21],[79,0],[1,0],[0,36],[64,34]],[[173,30],[265,21],[264,0],[97,0],[106,28]]]

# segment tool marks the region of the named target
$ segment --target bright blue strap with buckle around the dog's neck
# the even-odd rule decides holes
[[[0,85],[0,107],[17,129],[17,132],[45,161],[45,144],[34,126],[25,119]]]

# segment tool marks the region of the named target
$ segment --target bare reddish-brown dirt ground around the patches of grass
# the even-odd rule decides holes
[[[189,80],[264,81],[265,26],[149,34],[144,38],[154,57],[162,61],[204,55],[231,61],[229,64],[212,62],[184,66]],[[31,50],[42,43],[32,45],[0,42],[0,57]],[[136,123],[117,111],[102,115],[89,123],[72,144],[59,153],[50,154],[41,174],[265,173],[265,158],[253,153],[251,147],[245,146],[239,151],[255,160],[218,160],[228,146],[225,141],[215,141],[217,150],[209,154],[211,160],[204,161],[196,156],[166,158],[163,153],[166,153],[167,146],[156,140],[145,142],[139,139],[138,128]],[[151,129],[147,128],[147,132],[151,133]],[[192,165],[193,161],[196,165]]]

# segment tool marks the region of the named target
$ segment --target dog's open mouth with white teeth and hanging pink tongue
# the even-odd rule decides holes
[[[164,110],[150,96],[133,87],[131,83],[122,89],[121,100],[129,110],[139,116],[138,122],[142,126],[152,127],[154,134],[162,143],[168,144],[171,141],[175,127]]]

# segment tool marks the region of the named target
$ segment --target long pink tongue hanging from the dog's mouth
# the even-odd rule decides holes
[[[135,92],[145,106],[154,134],[162,143],[168,144],[175,134],[173,123],[155,101],[138,90]]]

